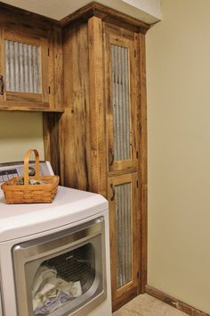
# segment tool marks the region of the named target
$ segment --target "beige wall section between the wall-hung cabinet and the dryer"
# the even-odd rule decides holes
[[[0,162],[22,161],[30,148],[44,159],[42,114],[0,112]]]

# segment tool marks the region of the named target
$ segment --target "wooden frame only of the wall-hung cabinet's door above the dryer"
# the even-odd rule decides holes
[[[40,59],[40,93],[29,92],[14,92],[8,91],[5,87],[5,40],[11,40],[13,42],[23,43],[31,46],[39,47],[39,59]],[[44,107],[49,107],[49,40],[44,37],[37,37],[23,32],[19,32],[13,29],[1,29],[0,31],[0,45],[2,47],[2,53],[0,54],[0,74],[4,78],[4,95],[1,95],[1,104],[10,105],[13,103],[19,104],[19,106],[30,106],[31,104],[42,104]]]

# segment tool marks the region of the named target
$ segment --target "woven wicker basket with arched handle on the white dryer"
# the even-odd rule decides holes
[[[36,174],[28,176],[28,160],[30,154],[34,152],[36,156]],[[22,177],[15,177],[2,185],[4,197],[7,204],[22,203],[51,203],[57,192],[59,176],[40,176],[39,174],[39,154],[36,149],[29,149],[24,157],[24,184],[17,184]],[[29,185],[28,180],[41,180],[44,184]]]

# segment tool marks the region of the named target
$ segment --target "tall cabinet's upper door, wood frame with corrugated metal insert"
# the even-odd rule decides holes
[[[106,35],[109,171],[133,168],[137,163],[135,54],[134,40]]]

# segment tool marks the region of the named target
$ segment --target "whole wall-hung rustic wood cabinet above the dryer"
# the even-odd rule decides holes
[[[28,15],[1,8],[0,110],[60,111],[61,28]]]

